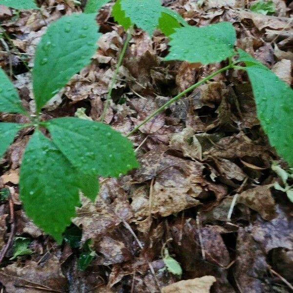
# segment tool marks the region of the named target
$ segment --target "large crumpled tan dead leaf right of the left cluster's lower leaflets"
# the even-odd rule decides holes
[[[215,185],[203,177],[203,164],[165,154],[166,148],[157,148],[140,158],[141,168],[134,179],[144,182],[155,179],[149,198],[149,188],[139,187],[132,191],[132,209],[135,216],[144,218],[150,214],[167,216],[183,209],[199,205],[201,200],[219,201],[226,188]],[[215,196],[213,196],[215,195]]]

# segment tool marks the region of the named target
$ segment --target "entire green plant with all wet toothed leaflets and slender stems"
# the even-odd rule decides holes
[[[21,2],[29,1],[0,0],[0,4],[17,9],[21,8]],[[109,86],[102,122],[74,117],[42,121],[40,114],[46,102],[90,62],[100,36],[96,12],[107,2],[109,0],[88,0],[83,14],[62,17],[50,24],[42,36],[32,74],[35,113],[27,113],[13,84],[0,70],[0,111],[20,113],[31,120],[27,124],[0,123],[0,157],[21,128],[34,128],[22,158],[20,197],[25,212],[36,225],[61,243],[62,233],[79,205],[79,190],[94,201],[99,189],[97,176],[117,177],[139,167],[131,143],[102,123],[134,25],[150,36],[159,28],[169,37],[166,61],[208,64],[227,60],[227,65],[171,98],[128,136],[217,74],[231,69],[245,70],[251,81],[257,116],[271,145],[293,164],[293,90],[262,63],[235,48],[236,33],[231,23],[190,26],[176,12],[163,7],[160,0],[118,0],[113,6],[114,19],[128,31]]]

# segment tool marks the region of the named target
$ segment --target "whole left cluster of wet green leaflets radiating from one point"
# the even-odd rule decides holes
[[[27,215],[59,243],[80,205],[79,190],[95,200],[97,176],[118,177],[139,167],[132,144],[110,126],[76,117],[42,121],[40,116],[46,102],[90,62],[100,36],[95,17],[64,16],[42,36],[32,73],[35,115],[22,107],[18,92],[0,69],[0,111],[31,119],[28,124],[0,123],[0,157],[21,128],[34,126],[22,158],[20,197]]]

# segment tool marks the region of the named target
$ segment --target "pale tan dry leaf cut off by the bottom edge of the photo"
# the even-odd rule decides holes
[[[209,293],[212,284],[216,282],[214,276],[203,276],[201,278],[179,281],[163,287],[162,293]]]

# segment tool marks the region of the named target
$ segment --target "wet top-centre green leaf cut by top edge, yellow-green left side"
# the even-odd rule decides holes
[[[153,35],[161,17],[160,0],[118,0],[112,10],[115,21],[127,29],[131,24]]]

